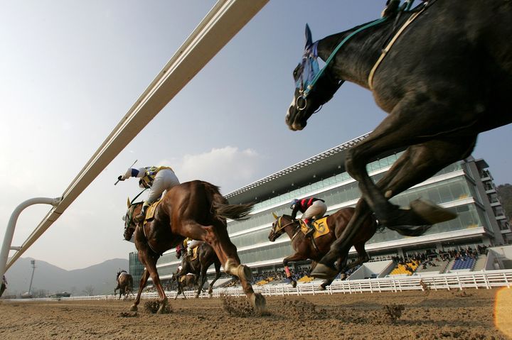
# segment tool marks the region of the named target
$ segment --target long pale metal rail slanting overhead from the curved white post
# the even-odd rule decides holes
[[[142,131],[151,119],[227,44],[268,0],[219,0],[174,53],[128,113],[63,193],[63,199],[36,226],[21,247],[0,263],[0,276],[48,229],[97,175]],[[4,242],[5,243],[5,242]],[[9,252],[11,244],[2,247]],[[5,268],[3,269],[2,267]]]

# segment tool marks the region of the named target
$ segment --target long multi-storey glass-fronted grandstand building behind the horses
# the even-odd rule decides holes
[[[286,234],[274,242],[267,238],[274,221],[272,212],[291,214],[289,205],[292,199],[312,195],[324,199],[329,207],[327,214],[356,205],[361,194],[357,182],[346,172],[344,160],[346,150],[366,136],[314,155],[225,195],[230,204],[257,202],[250,219],[228,221],[228,232],[238,248],[242,263],[255,272],[275,270],[282,267],[284,257],[294,252]],[[402,150],[396,150],[369,163],[367,169],[373,180],[383,177],[401,153]],[[488,168],[485,160],[469,157],[393,197],[391,202],[402,207],[407,207],[410,201],[419,197],[430,199],[456,212],[458,217],[435,224],[418,237],[401,236],[384,229],[366,243],[370,256],[405,256],[431,249],[449,251],[466,246],[476,248],[479,245],[512,243],[512,232]],[[354,253],[352,248],[351,254]],[[164,253],[157,264],[161,279],[170,278],[180,263],[174,250]],[[135,280],[140,278],[143,269],[137,253],[130,253],[129,270]]]

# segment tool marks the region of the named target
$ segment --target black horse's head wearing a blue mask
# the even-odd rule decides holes
[[[317,61],[318,43],[313,43],[311,30],[306,24],[304,55],[293,72],[295,93],[286,115],[286,124],[293,131],[306,127],[309,117],[329,102],[343,83],[327,72],[326,67],[320,70]]]

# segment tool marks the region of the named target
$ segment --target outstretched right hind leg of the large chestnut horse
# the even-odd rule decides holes
[[[252,290],[250,281],[252,280],[252,271],[247,265],[240,264],[236,246],[230,241],[228,229],[225,225],[220,227],[203,226],[196,221],[182,221],[183,236],[191,237],[196,240],[203,240],[210,244],[225,273],[235,275],[240,278],[242,289],[250,300],[251,304],[259,312],[265,311],[265,297]]]

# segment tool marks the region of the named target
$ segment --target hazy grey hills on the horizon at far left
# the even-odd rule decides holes
[[[31,261],[19,258],[6,272],[9,285],[4,295],[21,295],[28,290],[32,275]],[[45,261],[36,260],[32,281],[34,295],[70,292],[72,295],[102,295],[114,292],[116,273],[128,270],[128,260],[114,258],[87,268],[65,270]]]

